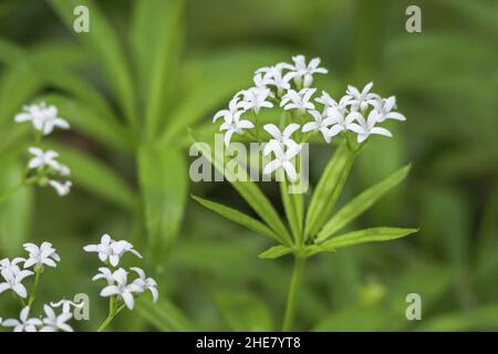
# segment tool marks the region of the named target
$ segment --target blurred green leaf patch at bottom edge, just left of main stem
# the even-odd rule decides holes
[[[270,311],[250,293],[220,291],[216,300],[230,331],[263,332],[273,329]]]

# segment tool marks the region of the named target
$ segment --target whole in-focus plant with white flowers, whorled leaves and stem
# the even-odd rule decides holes
[[[386,119],[405,121],[405,117],[395,111],[394,96],[383,98],[371,92],[373,83],[363,90],[350,85],[340,100],[332,98],[324,91],[313,98],[317,93],[317,88],[312,87],[314,75],[326,74],[328,71],[320,67],[320,59],[307,63],[303,55],[297,55],[292,61],[292,64],[278,63],[257,70],[255,86],[238,92],[228,110],[218,112],[214,117],[215,123],[222,118],[219,129],[224,133],[227,148],[238,138],[245,143],[263,143],[260,153],[273,156],[266,163],[263,174],[278,175],[287,222],[256,183],[232,178],[232,168],[227,168],[228,164],[216,154],[211,155],[206,144],[200,143],[199,136],[193,133],[197,149],[227,177],[261,220],[200,197],[194,198],[225,218],[277,241],[278,244],[261,252],[260,258],[294,257],[283,330],[292,329],[297,293],[307,258],[357,243],[397,239],[417,231],[375,227],[336,236],[407,175],[409,166],[395,171],[334,212],[335,202],[363,146],[373,135],[392,136],[381,126]],[[263,124],[260,121],[261,110],[277,107],[281,108],[280,119]],[[325,143],[335,143],[336,147],[307,204],[303,194],[295,192],[292,187],[307,178],[297,166],[300,165],[302,147],[317,136]],[[234,162],[237,164],[236,158],[230,164]]]

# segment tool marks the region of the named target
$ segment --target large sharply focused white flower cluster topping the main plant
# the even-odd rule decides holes
[[[324,91],[313,98],[317,93],[317,88],[311,87],[314,75],[326,74],[328,70],[320,67],[318,58],[307,63],[303,55],[297,55],[292,61],[292,64],[278,63],[258,69],[253,76],[255,86],[238,92],[228,110],[219,111],[214,116],[214,122],[224,119],[220,131],[225,132],[225,145],[228,147],[234,134],[259,140],[259,135],[251,129],[259,132],[257,115],[261,108],[283,110],[283,119],[280,119],[283,129],[276,124],[263,125],[270,135],[263,155],[274,156],[264,166],[263,174],[283,169],[290,180],[295,180],[297,170],[292,162],[299,155],[301,144],[317,133],[326,143],[338,135],[347,137],[355,134],[357,144],[362,144],[374,134],[391,137],[390,131],[378,126],[386,119],[405,121],[401,113],[395,112],[396,98],[383,98],[372,93],[373,83],[362,91],[349,85],[339,101]]]

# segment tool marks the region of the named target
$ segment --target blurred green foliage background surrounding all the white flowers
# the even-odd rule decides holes
[[[90,33],[72,31],[76,4]],[[422,33],[405,9],[422,9]],[[291,260],[260,260],[268,242],[196,205],[189,194],[241,210],[228,183],[188,180],[187,127],[209,134],[212,114],[252,71],[290,55],[320,56],[317,80],[333,97],[346,84],[396,95],[405,124],[372,139],[342,200],[408,162],[394,192],[356,222],[419,227],[417,236],[323,254],[309,262],[297,330],[498,330],[498,2],[494,0],[129,0],[0,2],[0,190],[15,185],[31,139],[12,117],[23,104],[56,104],[72,125],[49,145],[72,168],[73,191],[23,190],[0,206],[0,258],[25,240],[62,258],[43,273],[42,302],[91,298],[94,330],[106,316],[98,267],[82,247],[104,232],[128,239],[129,264],[159,282],[113,330],[278,330]],[[315,181],[330,148],[312,148]],[[268,185],[268,184],[267,184]],[[264,191],[279,204],[278,187]],[[407,321],[419,293],[423,320]],[[146,298],[146,296],[144,296]],[[0,295],[0,314],[19,309]]]

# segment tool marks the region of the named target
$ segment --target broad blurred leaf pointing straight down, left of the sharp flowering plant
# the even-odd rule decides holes
[[[148,246],[155,260],[162,262],[176,240],[187,201],[185,158],[172,147],[165,150],[143,145],[138,149],[138,177]]]

